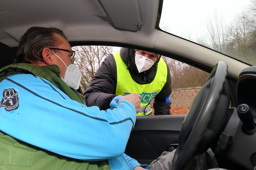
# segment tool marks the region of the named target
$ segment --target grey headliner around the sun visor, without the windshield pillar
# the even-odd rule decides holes
[[[153,47],[158,31],[155,29],[158,1],[140,0],[143,27],[139,32],[114,29],[97,16],[107,17],[96,0],[84,1],[20,1],[1,0],[0,41],[18,46],[20,36],[31,26],[57,27],[69,41],[112,41]],[[113,6],[113,8],[117,8]],[[150,10],[149,10],[150,9]]]

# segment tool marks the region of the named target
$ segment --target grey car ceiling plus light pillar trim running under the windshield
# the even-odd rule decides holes
[[[20,37],[29,27],[57,27],[63,30],[69,41],[105,41],[142,46],[177,54],[210,68],[223,60],[228,63],[228,74],[233,78],[237,78],[241,70],[248,67],[223,54],[157,30],[158,0],[138,0],[139,17],[143,26],[135,32],[118,30],[108,21],[104,21],[102,18],[109,16],[99,2],[100,0],[1,0],[0,42],[17,47]],[[116,3],[118,0],[109,2],[113,4],[114,11],[124,8]],[[132,7],[126,8],[126,12],[133,11]],[[116,15],[129,17],[126,13]]]

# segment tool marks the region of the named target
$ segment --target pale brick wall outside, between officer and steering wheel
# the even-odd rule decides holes
[[[201,87],[173,89],[171,94],[171,108],[190,107],[190,104],[200,89]]]

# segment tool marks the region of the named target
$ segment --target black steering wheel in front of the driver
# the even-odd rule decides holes
[[[216,144],[228,116],[228,65],[219,61],[196,95],[180,130],[172,170],[184,169],[189,160]]]

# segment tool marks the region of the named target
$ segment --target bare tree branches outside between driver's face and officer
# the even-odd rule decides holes
[[[82,73],[82,90],[89,86],[89,83],[102,61],[112,53],[112,46],[75,46],[75,63]]]

